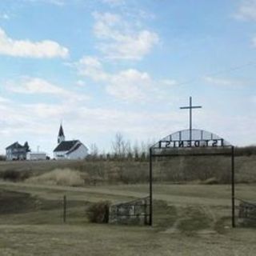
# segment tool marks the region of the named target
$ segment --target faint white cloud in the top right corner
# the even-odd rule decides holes
[[[256,0],[243,0],[235,18],[256,21]]]

